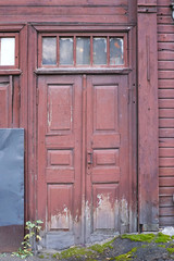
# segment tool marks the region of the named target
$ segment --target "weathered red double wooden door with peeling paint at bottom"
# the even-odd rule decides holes
[[[126,75],[38,78],[38,219],[46,247],[128,231]]]

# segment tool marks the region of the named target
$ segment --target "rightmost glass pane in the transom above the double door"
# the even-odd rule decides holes
[[[123,39],[110,38],[110,64],[124,64]]]

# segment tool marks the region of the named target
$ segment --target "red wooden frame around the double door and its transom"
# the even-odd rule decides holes
[[[124,32],[127,34],[128,39],[128,50],[133,50],[128,52],[128,61],[129,66],[126,69],[77,69],[77,70],[50,70],[50,69],[37,69],[37,39],[38,33],[40,32],[64,32],[65,26],[60,25],[42,25],[42,24],[33,24],[27,26],[28,30],[28,46],[33,46],[33,49],[28,49],[28,147],[27,147],[27,159],[28,159],[28,190],[27,190],[27,220],[36,220],[37,219],[37,77],[39,75],[49,75],[49,74],[127,74],[128,76],[128,96],[129,96],[129,183],[132,184],[132,199],[129,203],[129,232],[137,231],[137,100],[136,100],[136,27],[135,26],[111,26],[111,25],[86,25],[80,26],[71,25],[66,29],[67,32]],[[86,84],[85,77],[83,77],[83,85]],[[83,102],[85,102],[86,94],[84,92]],[[83,109],[83,114],[84,114]],[[85,124],[85,123],[84,123]],[[85,135],[85,130],[83,129],[83,135]],[[34,142],[30,142],[30,140]],[[85,151],[83,151],[85,153]],[[85,166],[83,164],[83,172],[85,173]],[[83,185],[83,189],[85,186]],[[83,199],[84,200],[84,199]],[[84,233],[84,232],[83,232]]]

